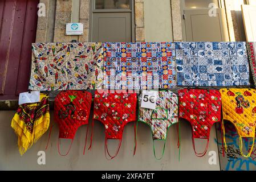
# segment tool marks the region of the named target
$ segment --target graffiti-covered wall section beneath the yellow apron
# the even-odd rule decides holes
[[[225,148],[222,144],[220,125],[217,128],[218,152],[220,155],[220,166],[223,171],[256,171],[256,146],[253,148],[250,158],[244,158],[239,149],[239,136],[235,127],[230,122],[225,122],[225,138],[227,151],[225,156],[223,152]],[[243,151],[250,151],[253,140],[243,138]]]

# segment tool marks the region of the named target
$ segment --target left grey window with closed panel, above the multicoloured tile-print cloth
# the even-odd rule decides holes
[[[134,0],[91,0],[90,42],[132,42]]]

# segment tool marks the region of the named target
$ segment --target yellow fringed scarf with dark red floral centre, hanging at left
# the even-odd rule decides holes
[[[47,131],[50,123],[49,100],[40,94],[40,102],[19,105],[11,127],[18,135],[18,148],[21,155]]]

